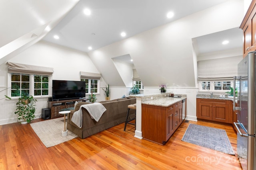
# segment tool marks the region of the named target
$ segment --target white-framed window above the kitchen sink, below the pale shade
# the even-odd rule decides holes
[[[209,82],[199,82],[200,91],[217,91],[226,92],[230,86],[233,85],[232,81],[209,81]]]

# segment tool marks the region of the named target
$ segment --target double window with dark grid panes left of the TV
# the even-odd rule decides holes
[[[11,73],[11,97],[48,96],[49,77],[51,76]]]

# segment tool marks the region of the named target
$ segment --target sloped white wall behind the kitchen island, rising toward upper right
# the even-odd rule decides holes
[[[243,7],[243,1],[230,0],[91,51],[88,55],[100,72],[111,72],[106,63],[110,63],[112,57],[130,54],[144,85],[144,93],[154,93],[155,90],[150,87],[158,87],[160,84],[170,88],[182,87],[180,93],[190,90],[191,95],[187,98],[190,109],[188,116],[194,117],[197,68],[193,58],[192,38],[239,27],[244,16]]]

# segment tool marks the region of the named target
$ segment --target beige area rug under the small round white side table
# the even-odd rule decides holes
[[[53,147],[78,137],[69,130],[68,135],[62,137],[62,131],[64,130],[64,117],[30,123],[30,125],[46,148]]]

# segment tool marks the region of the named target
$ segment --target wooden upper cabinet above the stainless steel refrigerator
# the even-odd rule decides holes
[[[243,30],[243,57],[256,50],[256,0],[252,0],[240,25]]]

